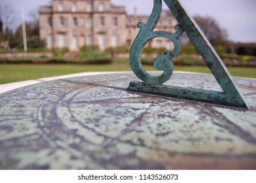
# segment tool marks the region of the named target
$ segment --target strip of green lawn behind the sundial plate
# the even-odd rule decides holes
[[[145,65],[144,67],[147,71],[155,71],[153,66]],[[1,64],[0,84],[88,71],[131,71],[131,69],[128,63],[109,65]],[[198,66],[175,67],[175,71],[210,73],[207,67]],[[256,78],[256,69],[253,67],[230,67],[229,71],[233,76]]]

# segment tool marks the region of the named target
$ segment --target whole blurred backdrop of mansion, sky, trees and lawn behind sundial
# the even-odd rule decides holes
[[[256,78],[256,1],[180,0],[196,20],[233,76]],[[0,84],[81,73],[131,71],[129,52],[147,22],[153,0],[1,0]],[[177,25],[163,2],[155,30],[174,32]],[[184,33],[175,71],[210,73]],[[143,49],[142,63],[173,50],[156,38]]]

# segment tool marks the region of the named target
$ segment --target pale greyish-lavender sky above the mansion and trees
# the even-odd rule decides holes
[[[0,0],[0,5],[12,6],[17,14],[21,8],[28,13],[38,10],[40,5],[49,5],[50,0]],[[137,7],[138,14],[150,14],[153,0],[111,0],[114,5],[125,5],[128,14]],[[212,16],[219,25],[227,29],[229,40],[256,42],[256,0],[180,0],[189,14]],[[164,3],[163,3],[164,4]],[[164,6],[164,8],[167,8]],[[21,16],[18,16],[21,17]]]

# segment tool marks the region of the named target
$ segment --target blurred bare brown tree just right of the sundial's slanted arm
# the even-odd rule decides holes
[[[219,26],[217,20],[211,16],[194,16],[194,20],[202,29],[211,44],[218,41],[227,40],[227,30]]]

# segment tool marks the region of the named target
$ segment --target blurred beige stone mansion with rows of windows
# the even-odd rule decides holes
[[[149,15],[128,15],[124,6],[112,5],[110,0],[53,0],[51,6],[39,9],[40,39],[47,48],[67,47],[79,50],[84,44],[107,47],[132,46],[139,33],[138,22],[147,22]],[[155,30],[174,32],[177,24],[169,10],[163,10]],[[167,39],[155,38],[152,47],[172,48]]]

